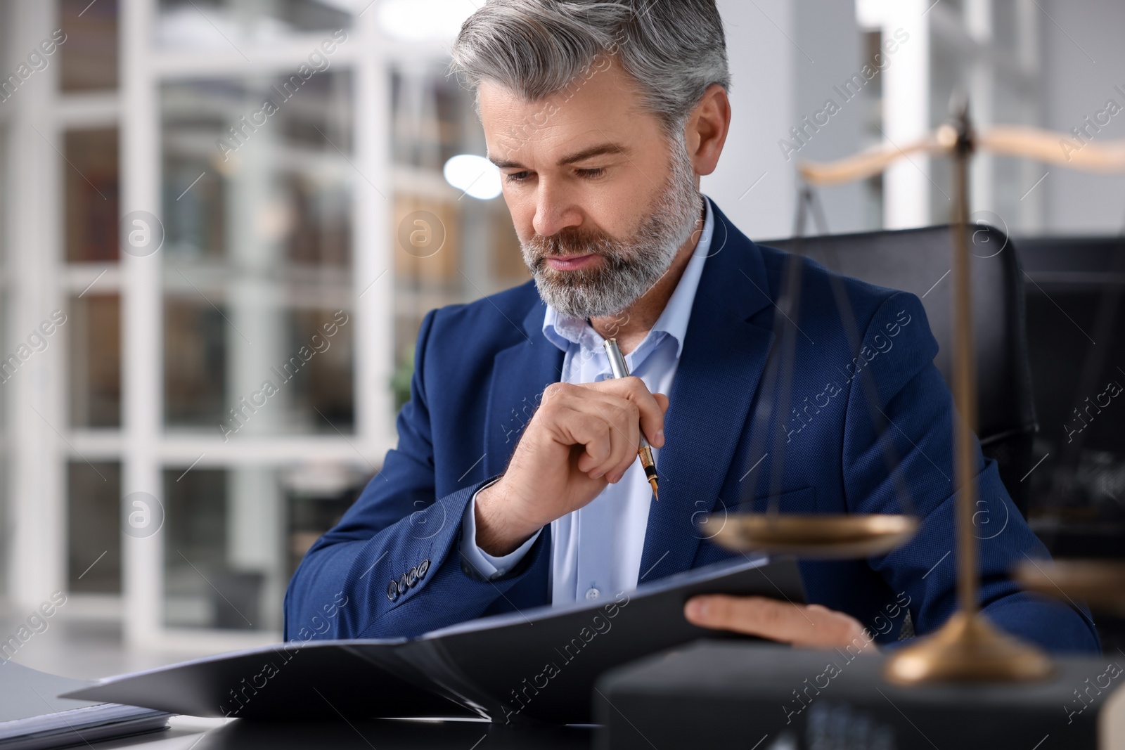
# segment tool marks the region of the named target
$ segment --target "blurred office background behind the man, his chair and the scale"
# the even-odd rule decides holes
[[[479,2],[0,0],[0,633],[68,597],[17,660],[96,677],[280,638],[302,554],[394,444],[423,315],[528,278],[498,180],[450,162],[484,154],[444,53]],[[703,190],[754,238],[793,232],[796,160],[909,143],[955,89],[979,126],[1125,137],[1112,0],[719,6],[735,116]],[[831,232],[925,226],[948,183],[911,156],[819,199]],[[1017,247],[1102,238],[1028,245],[1026,481],[1048,546],[1119,555],[1125,399],[1074,455],[1064,425],[1125,383],[1125,178],[981,155],[972,207]]]

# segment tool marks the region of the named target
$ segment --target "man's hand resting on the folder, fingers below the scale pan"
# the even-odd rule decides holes
[[[684,616],[701,627],[730,630],[811,649],[871,644],[872,636],[850,615],[819,604],[790,604],[760,596],[695,596]]]

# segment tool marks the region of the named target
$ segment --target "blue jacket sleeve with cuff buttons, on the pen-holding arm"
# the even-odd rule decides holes
[[[461,518],[486,482],[435,497],[423,370],[436,311],[418,332],[411,400],[398,415],[398,446],[340,523],[305,554],[285,598],[285,639],[396,638],[482,616],[529,571],[543,535],[498,580],[466,572]],[[487,480],[486,480],[487,481]],[[470,571],[471,572],[471,571]]]

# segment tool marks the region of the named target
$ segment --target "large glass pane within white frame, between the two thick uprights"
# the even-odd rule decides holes
[[[351,79],[162,87],[169,428],[353,431]]]

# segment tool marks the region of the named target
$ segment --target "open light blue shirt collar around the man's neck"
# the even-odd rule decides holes
[[[714,235],[714,213],[711,210],[711,200],[704,197],[703,205],[706,211],[703,232],[692,252],[692,257],[687,261],[684,273],[680,277],[680,283],[672,292],[664,311],[660,313],[660,317],[656,319],[652,329],[649,331],[648,336],[637,347],[637,351],[646,349],[650,340],[656,342],[664,336],[672,336],[676,342],[677,359],[684,349],[684,337],[687,335],[687,322],[695,301],[695,291],[699,289],[700,277],[703,274],[703,263],[711,254],[711,237]],[[564,352],[572,344],[600,350],[603,341],[602,336],[586,320],[562,315],[550,305],[547,306],[547,314],[543,316],[543,336]]]

